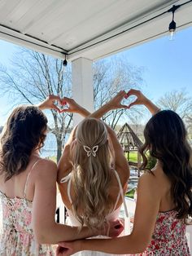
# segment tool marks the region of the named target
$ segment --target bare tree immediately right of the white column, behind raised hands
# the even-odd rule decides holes
[[[94,104],[100,108],[120,90],[128,91],[130,88],[139,88],[142,85],[142,68],[134,67],[121,57],[111,60],[99,60],[94,63]],[[139,85],[139,86],[138,86]],[[128,104],[127,100],[124,100]],[[127,101],[127,102],[126,102]],[[112,129],[116,128],[120,117],[134,119],[141,112],[137,108],[129,112],[124,109],[116,109],[103,116]],[[140,116],[141,117],[141,116]]]

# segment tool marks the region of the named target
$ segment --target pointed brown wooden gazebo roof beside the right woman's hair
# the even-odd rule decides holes
[[[129,147],[129,150],[133,150],[142,146],[142,141],[133,132],[128,123],[125,123],[124,126],[120,128],[117,139],[119,139],[124,149]]]

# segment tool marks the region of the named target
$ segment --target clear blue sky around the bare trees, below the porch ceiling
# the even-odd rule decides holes
[[[165,92],[185,90],[192,96],[192,27],[176,33],[173,41],[168,36],[120,52],[130,64],[144,68],[144,93],[157,100]],[[18,46],[0,40],[0,64],[11,64]],[[108,57],[110,58],[110,57]],[[7,118],[7,97],[0,100],[0,126]]]

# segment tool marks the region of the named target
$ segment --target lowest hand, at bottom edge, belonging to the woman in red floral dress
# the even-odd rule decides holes
[[[56,256],[69,256],[81,251],[81,241],[60,242],[56,249]]]

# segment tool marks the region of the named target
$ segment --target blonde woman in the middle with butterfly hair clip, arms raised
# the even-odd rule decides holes
[[[112,100],[124,95],[121,91]],[[84,117],[89,115],[73,99],[63,100],[70,106],[64,111],[80,113]],[[128,162],[116,133],[95,118],[102,117],[108,107],[109,104],[103,106],[81,121],[72,131],[59,161],[59,190],[68,210],[68,224],[72,226],[98,230],[107,221],[119,218],[124,202],[129,179]],[[91,255],[98,254],[101,253]]]

